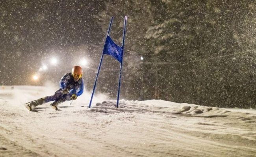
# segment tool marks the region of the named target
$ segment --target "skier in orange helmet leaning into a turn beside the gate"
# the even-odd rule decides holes
[[[72,73],[66,73],[59,81],[60,88],[52,96],[43,97],[29,103],[28,110],[32,106],[38,106],[46,102],[54,101],[50,104],[54,110],[58,110],[58,104],[67,100],[76,100],[83,93],[84,80],[82,78],[83,70],[80,66],[74,66]]]

